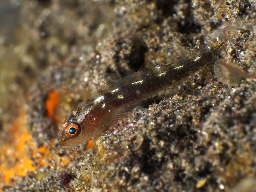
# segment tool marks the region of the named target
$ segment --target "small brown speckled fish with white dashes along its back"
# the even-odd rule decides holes
[[[82,102],[61,125],[58,143],[71,148],[99,136],[116,124],[140,101],[166,90],[214,62],[226,47],[229,35],[208,40],[195,54],[175,61],[157,57],[154,64],[145,64],[138,72],[108,81],[101,89]]]

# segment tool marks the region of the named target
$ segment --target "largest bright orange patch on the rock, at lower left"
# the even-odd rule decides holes
[[[15,176],[26,176],[27,172],[33,172],[38,167],[53,166],[55,163],[66,166],[70,159],[66,156],[59,157],[55,151],[50,151],[47,146],[36,148],[31,134],[28,131],[25,115],[18,117],[9,129],[9,143],[0,148],[0,188],[2,185],[10,185],[10,179]],[[33,164],[37,163],[37,167]]]

